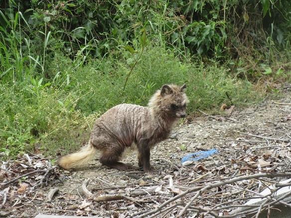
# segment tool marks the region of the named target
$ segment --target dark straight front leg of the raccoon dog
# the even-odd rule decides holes
[[[139,149],[139,166],[143,167],[144,171],[147,173],[152,172],[150,167],[150,149],[147,140],[142,140],[138,146]]]

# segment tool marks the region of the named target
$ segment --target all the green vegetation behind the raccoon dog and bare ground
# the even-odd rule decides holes
[[[290,78],[288,0],[4,0],[0,8],[0,151],[10,157],[75,150],[101,113],[146,105],[166,83],[187,84],[194,113],[252,102],[258,82]]]

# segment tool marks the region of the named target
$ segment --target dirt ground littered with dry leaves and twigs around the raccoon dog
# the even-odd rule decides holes
[[[208,158],[188,163],[189,165],[181,164],[181,158],[188,153],[214,148],[218,152]],[[37,181],[37,174],[21,178],[21,181],[3,187],[6,194],[0,190],[0,204],[4,203],[0,207],[0,217],[24,218],[47,214],[130,218],[143,217],[147,212],[155,209],[162,211],[168,207],[164,213],[148,216],[174,218],[196,193],[159,208],[174,196],[190,188],[203,187],[235,176],[258,172],[290,172],[290,152],[291,88],[286,87],[280,98],[267,98],[244,109],[235,107],[230,115],[204,114],[187,124],[178,125],[168,140],[159,143],[152,150],[151,165],[156,172],[153,175],[145,175],[139,169],[121,172],[101,166],[97,156],[88,167],[80,170],[54,169],[55,176],[50,177],[44,188],[31,189],[34,184],[32,180]],[[32,154],[29,157],[33,163],[48,164],[46,159]],[[24,165],[28,162],[25,158],[20,163],[21,161]],[[123,161],[138,166],[135,151],[129,152]],[[1,166],[2,169],[6,167],[3,171],[5,175],[1,177],[0,174],[2,183],[26,172],[22,170],[22,174],[17,172],[13,176],[7,171],[11,171],[11,165],[15,162],[9,164],[3,163]],[[59,183],[58,178],[62,183]],[[87,189],[93,194],[91,197],[86,197],[82,191],[82,184],[87,179],[90,179]],[[26,184],[24,191],[19,191],[23,183]],[[259,192],[269,183],[262,185],[252,180],[252,184],[257,184],[252,190]],[[245,188],[250,186],[250,182],[233,184],[235,185]],[[49,201],[47,195],[53,188],[58,188],[58,192]],[[117,198],[120,200],[97,202],[98,196],[119,196]],[[182,217],[203,217],[203,210],[229,202],[232,198],[240,197],[236,203],[229,205],[244,204],[247,199],[241,198],[242,196],[251,197],[251,193],[237,192],[234,195],[229,186],[208,190],[193,200],[192,207]],[[230,215],[233,210],[234,207],[229,207],[217,210],[216,213],[217,216]],[[211,214],[206,216],[215,217]]]

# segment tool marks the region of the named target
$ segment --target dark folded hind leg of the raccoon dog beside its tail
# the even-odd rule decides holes
[[[132,169],[133,168],[132,165],[120,162],[122,153],[123,153],[122,148],[113,147],[110,150],[103,151],[99,158],[99,161],[101,164],[105,166],[122,171]]]

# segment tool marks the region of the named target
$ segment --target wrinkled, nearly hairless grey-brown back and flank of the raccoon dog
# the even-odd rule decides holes
[[[106,111],[97,119],[91,133],[91,141],[102,149],[104,143],[119,143],[131,146],[133,142],[144,137],[150,128],[150,112],[146,107],[121,104]]]

